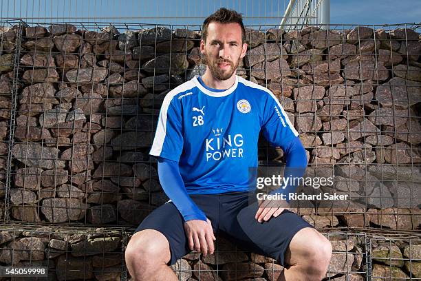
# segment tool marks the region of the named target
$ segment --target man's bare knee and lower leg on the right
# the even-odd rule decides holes
[[[325,236],[305,227],[292,238],[285,252],[285,267],[278,281],[320,281],[332,257],[332,244]]]

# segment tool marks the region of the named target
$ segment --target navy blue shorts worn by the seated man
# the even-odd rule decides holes
[[[300,216],[287,209],[267,222],[255,219],[257,202],[249,201],[247,192],[229,194],[191,194],[192,200],[212,223],[215,237],[222,234],[239,248],[278,260],[285,267],[285,251],[300,229],[312,227]],[[153,210],[136,232],[155,229],[169,241],[169,265],[190,253],[183,218],[173,202]],[[314,228],[314,227],[312,227]],[[222,233],[221,233],[222,232]],[[217,242],[217,240],[215,241]]]

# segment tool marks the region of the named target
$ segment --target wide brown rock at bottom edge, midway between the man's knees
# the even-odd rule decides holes
[[[223,280],[241,280],[262,276],[264,268],[252,262],[228,263],[222,266],[221,277]]]

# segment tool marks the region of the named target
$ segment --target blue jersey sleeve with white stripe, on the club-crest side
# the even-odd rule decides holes
[[[299,135],[272,93],[268,93],[263,107],[262,132],[269,143],[282,148]]]

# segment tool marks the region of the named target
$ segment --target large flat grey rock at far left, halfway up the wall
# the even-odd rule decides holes
[[[56,169],[64,167],[58,160],[60,151],[55,147],[43,147],[39,143],[17,143],[12,148],[12,155],[29,167]]]

